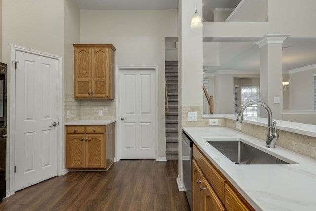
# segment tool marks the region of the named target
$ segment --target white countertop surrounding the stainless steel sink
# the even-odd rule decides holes
[[[197,147],[257,211],[315,211],[316,160],[228,127],[183,127]],[[237,165],[208,144],[204,138],[241,138],[276,157],[297,164]]]

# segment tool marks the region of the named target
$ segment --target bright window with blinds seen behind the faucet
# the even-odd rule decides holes
[[[259,87],[241,87],[241,106],[259,100]],[[250,105],[243,112],[245,117],[259,117],[259,105]]]

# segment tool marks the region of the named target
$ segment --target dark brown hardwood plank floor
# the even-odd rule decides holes
[[[107,172],[69,172],[3,199],[0,211],[190,211],[178,161],[120,160]]]

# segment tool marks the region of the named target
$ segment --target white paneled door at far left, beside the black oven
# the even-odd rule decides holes
[[[57,176],[58,60],[21,51],[15,59],[17,191]]]

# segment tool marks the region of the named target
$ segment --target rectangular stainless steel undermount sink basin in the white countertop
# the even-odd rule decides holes
[[[297,164],[286,158],[277,158],[267,152],[257,149],[238,140],[208,140],[207,143],[225,155],[235,164]]]

